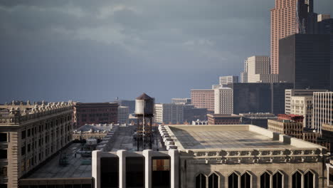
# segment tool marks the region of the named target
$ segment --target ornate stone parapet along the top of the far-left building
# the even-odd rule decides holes
[[[16,125],[21,122],[33,120],[39,117],[45,117],[54,113],[60,113],[73,109],[73,102],[70,100],[68,103],[42,103],[41,105],[31,105],[27,102],[26,105],[0,105],[0,109],[8,110],[6,113],[0,114],[0,125]]]

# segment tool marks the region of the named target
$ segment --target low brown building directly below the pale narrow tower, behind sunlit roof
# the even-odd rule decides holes
[[[208,125],[239,125],[240,116],[235,114],[208,114]]]

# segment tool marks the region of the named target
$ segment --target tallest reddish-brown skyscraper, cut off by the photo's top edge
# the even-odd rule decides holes
[[[279,40],[295,33],[315,33],[317,14],[313,0],[275,0],[270,13],[271,73],[279,74]]]

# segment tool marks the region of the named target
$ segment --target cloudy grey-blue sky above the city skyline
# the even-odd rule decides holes
[[[169,103],[270,55],[274,0],[2,0],[0,103]],[[332,0],[314,11],[333,15]]]

